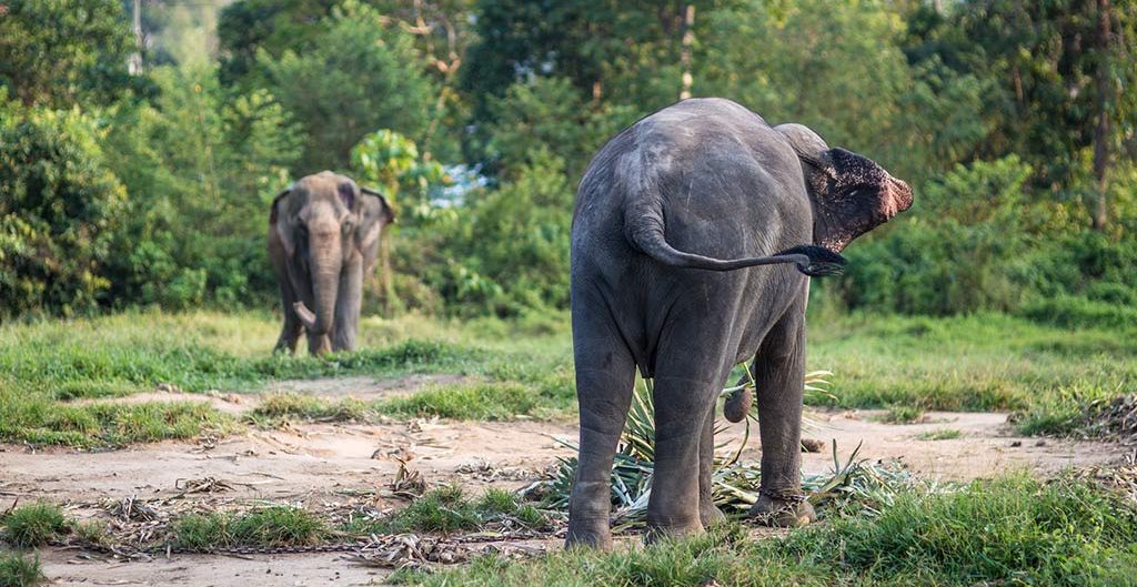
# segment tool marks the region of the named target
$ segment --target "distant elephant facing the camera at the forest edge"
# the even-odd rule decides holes
[[[355,349],[363,278],[392,221],[383,196],[331,171],[276,195],[268,216],[268,258],[284,304],[276,351],[296,352],[302,332],[313,354]]]

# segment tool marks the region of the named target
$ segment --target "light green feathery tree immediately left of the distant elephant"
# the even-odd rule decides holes
[[[267,297],[268,201],[287,184],[300,134],[264,90],[231,97],[215,69],[161,67],[152,103],[115,119],[111,166],[132,194],[116,240],[116,299],[181,308]]]

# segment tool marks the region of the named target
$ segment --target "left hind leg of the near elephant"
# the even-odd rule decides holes
[[[579,296],[578,296],[579,299]],[[576,300],[574,300],[576,301]],[[603,305],[573,304],[580,459],[568,503],[567,546],[612,546],[612,460],[631,404],[636,362]]]

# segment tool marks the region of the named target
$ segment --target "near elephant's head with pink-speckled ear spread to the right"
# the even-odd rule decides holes
[[[830,149],[798,124],[774,127],[802,161],[813,202],[813,242],[840,252],[854,238],[912,206],[912,188],[872,160]]]

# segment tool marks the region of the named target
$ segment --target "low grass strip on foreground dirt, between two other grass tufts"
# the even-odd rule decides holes
[[[271,506],[241,514],[210,512],[175,520],[173,546],[186,550],[233,546],[306,546],[330,534],[312,513],[294,508]]]

